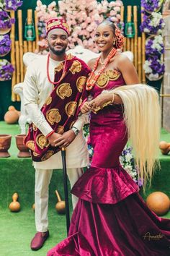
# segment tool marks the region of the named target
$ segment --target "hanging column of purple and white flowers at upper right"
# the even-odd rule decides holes
[[[146,61],[143,64],[143,69],[146,77],[151,81],[160,80],[165,72],[162,60],[164,42],[161,35],[165,22],[161,12],[158,12],[163,4],[164,0],[141,0],[144,10],[142,11],[143,22],[140,25],[140,30],[150,35],[146,40]]]

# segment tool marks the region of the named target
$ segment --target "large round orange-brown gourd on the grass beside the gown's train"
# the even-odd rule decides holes
[[[169,211],[169,197],[163,192],[153,192],[148,195],[146,205],[158,216],[163,216]]]

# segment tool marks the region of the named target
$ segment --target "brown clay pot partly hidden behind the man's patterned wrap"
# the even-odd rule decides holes
[[[24,138],[26,135],[15,135],[17,148],[19,149],[19,153],[17,155],[18,158],[30,158],[30,149],[24,145]]]

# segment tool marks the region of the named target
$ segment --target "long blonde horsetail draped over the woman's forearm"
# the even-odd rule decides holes
[[[122,98],[128,137],[133,147],[138,178],[143,187],[151,179],[158,161],[160,106],[158,93],[149,85],[123,85],[112,90]]]

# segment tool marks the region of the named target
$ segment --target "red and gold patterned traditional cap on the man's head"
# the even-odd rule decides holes
[[[48,22],[46,23],[47,35],[50,32],[50,30],[54,30],[56,28],[61,28],[62,30],[65,30],[68,35],[70,33],[68,24],[62,18],[53,18],[48,20]]]

